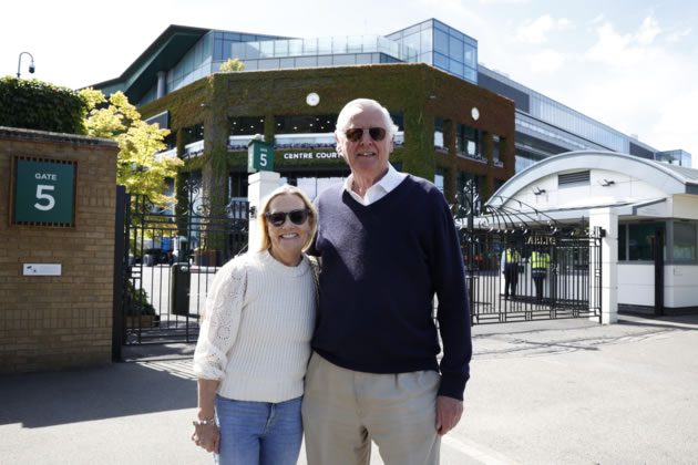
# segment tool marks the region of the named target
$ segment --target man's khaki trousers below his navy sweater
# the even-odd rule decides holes
[[[434,371],[365,373],[314,353],[301,407],[308,465],[367,465],[371,441],[386,465],[438,464],[440,382]]]

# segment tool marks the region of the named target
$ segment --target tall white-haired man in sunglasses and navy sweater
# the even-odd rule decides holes
[[[437,464],[463,411],[472,353],[463,260],[445,198],[388,162],[397,127],[349,102],[337,151],[351,175],[316,199],[320,308],[302,405],[309,465]],[[440,352],[432,319],[438,296]]]

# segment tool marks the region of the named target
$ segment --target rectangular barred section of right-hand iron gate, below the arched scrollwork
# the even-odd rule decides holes
[[[474,231],[465,244],[472,244],[472,259],[463,258],[473,324],[583,317],[601,322],[599,230]]]

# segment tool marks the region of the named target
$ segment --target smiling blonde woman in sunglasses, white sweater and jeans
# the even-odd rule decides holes
[[[302,254],[316,214],[281,186],[259,215],[261,246],[227,262],[214,279],[194,353],[198,418],[192,440],[219,464],[296,464],[300,402],[316,289]]]

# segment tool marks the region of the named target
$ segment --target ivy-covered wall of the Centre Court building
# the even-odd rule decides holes
[[[317,106],[306,104],[310,92],[320,95]],[[263,116],[265,140],[273,142],[276,115],[338,114],[347,102],[358,97],[374,99],[391,113],[403,114],[404,145],[394,149],[391,162],[401,164],[403,172],[430,180],[437,167],[444,168],[449,199],[455,195],[456,170],[483,176],[486,196],[492,194],[495,178],[506,180],[514,174],[514,102],[423,63],[216,73],[140,110],[144,117],[170,111],[179,154],[187,143],[181,130],[204,124],[204,154],[187,159],[182,172],[202,170],[204,185],[225,202],[229,170],[247,165],[246,152],[227,149],[229,118]],[[471,115],[473,107],[480,112],[476,121]],[[446,122],[446,153],[434,151],[434,116]],[[486,163],[456,156],[456,123],[483,132]],[[502,167],[492,159],[492,134],[503,141]],[[276,170],[343,164],[337,158],[288,161],[284,158],[288,152],[299,151],[275,151]]]

